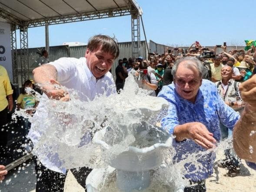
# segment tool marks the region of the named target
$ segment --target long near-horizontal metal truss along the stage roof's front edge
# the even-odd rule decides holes
[[[97,20],[103,19],[108,17],[116,17],[116,16],[126,16],[130,15],[129,7],[119,7],[107,10],[98,10],[93,12],[86,12],[80,14],[72,14],[67,16],[57,16],[52,18],[45,18],[40,20],[33,20],[33,21],[25,21],[24,26],[27,27],[37,27],[37,26],[45,26],[60,24],[60,23],[71,23],[77,21],[86,21],[86,20]],[[19,26],[17,26],[19,28]]]

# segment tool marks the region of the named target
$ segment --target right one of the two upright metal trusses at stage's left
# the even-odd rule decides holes
[[[29,78],[27,27],[20,29],[20,75],[21,83]]]

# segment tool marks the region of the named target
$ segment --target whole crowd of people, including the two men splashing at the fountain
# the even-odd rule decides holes
[[[222,52],[216,54],[216,49],[222,49]],[[216,147],[216,142],[229,136],[228,129],[234,128],[234,149],[241,158],[255,166],[256,153],[250,151],[250,146],[256,145],[256,136],[250,134],[252,123],[256,122],[254,46],[247,52],[234,49],[227,52],[226,43],[210,50],[195,42],[187,50],[175,48],[166,50],[162,55],[150,53],[146,59],[123,58],[118,61],[114,82],[109,71],[118,56],[119,48],[112,38],[93,36],[89,39],[83,58],[60,58],[41,65],[33,70],[33,81],[40,85],[44,97],[49,99],[69,101],[69,95],[60,87],[65,86],[79,91],[81,99],[88,101],[98,94],[110,95],[122,91],[126,78],[133,76],[138,86],[148,90],[149,95],[163,97],[169,102],[161,125],[163,130],[175,136],[174,163],[186,158],[188,154]],[[31,115],[38,104],[31,92],[33,81],[24,82],[23,92],[17,99],[18,108],[25,109]],[[4,93],[1,95],[4,100],[1,117],[13,107],[10,102],[10,81],[4,79],[3,83],[4,86],[0,87]],[[39,103],[38,108],[42,107],[43,104]],[[43,111],[37,110],[34,117],[42,116],[40,113]],[[1,122],[1,126],[3,124]],[[243,131],[244,124],[246,131]],[[43,124],[41,129],[44,129]],[[36,144],[40,135],[38,128],[35,129],[32,124],[28,137]],[[241,141],[239,137],[245,140]],[[226,159],[219,162],[219,166],[227,167],[229,176],[236,176],[239,172],[239,158],[233,156],[230,150],[226,150],[225,155]],[[193,165],[187,169],[184,176],[191,184],[197,185],[186,187],[186,192],[206,191],[205,179],[213,173],[214,160],[215,153],[210,152],[197,159],[202,164],[198,169]],[[35,169],[37,191],[63,191],[66,170],[60,169],[58,159],[37,159]],[[79,171],[71,171],[80,185],[86,188],[86,176],[91,170],[83,167]],[[0,166],[0,180],[6,174],[4,166]]]

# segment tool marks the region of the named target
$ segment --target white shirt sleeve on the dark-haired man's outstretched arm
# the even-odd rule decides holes
[[[69,81],[70,77],[76,73],[76,63],[70,58],[63,57],[47,65],[53,65],[56,68],[57,81],[60,84]]]

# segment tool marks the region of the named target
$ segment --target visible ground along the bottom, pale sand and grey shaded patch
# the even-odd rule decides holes
[[[213,176],[206,180],[207,192],[256,192],[256,171],[246,166],[244,161],[238,176],[225,176],[227,172],[216,165]],[[24,168],[20,166],[10,171],[7,178],[0,183],[0,192],[35,192],[35,183],[34,164],[30,162]],[[71,172],[67,174],[64,191],[84,192]]]

